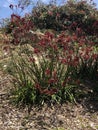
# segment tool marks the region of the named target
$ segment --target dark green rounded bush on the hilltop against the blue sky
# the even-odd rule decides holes
[[[69,0],[61,6],[36,6],[32,10],[31,19],[40,29],[76,31],[77,28],[81,28],[88,35],[97,35],[97,16],[98,11],[92,3]],[[92,25],[94,28],[91,28]]]

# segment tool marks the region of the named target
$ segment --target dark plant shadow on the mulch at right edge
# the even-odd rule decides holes
[[[77,103],[81,104],[87,112],[98,112],[98,81],[85,81],[80,85],[79,91]]]

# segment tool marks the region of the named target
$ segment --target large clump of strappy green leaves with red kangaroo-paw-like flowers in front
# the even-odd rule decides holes
[[[74,101],[81,79],[98,79],[97,51],[81,44],[84,39],[77,40],[65,32],[58,36],[46,32],[36,47],[20,46],[9,68],[18,103]]]

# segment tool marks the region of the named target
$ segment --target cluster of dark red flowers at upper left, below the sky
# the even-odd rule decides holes
[[[15,14],[11,15],[10,31],[13,44],[29,43],[33,39],[29,30],[33,28],[33,23],[28,17],[21,18]]]

